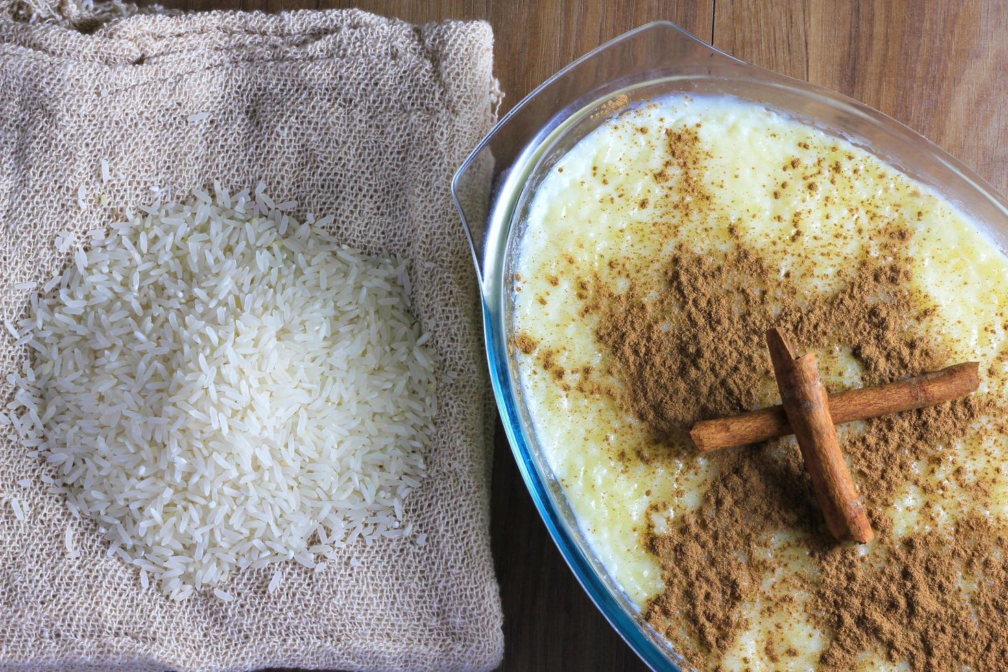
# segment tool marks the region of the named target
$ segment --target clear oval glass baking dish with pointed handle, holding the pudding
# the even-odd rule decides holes
[[[942,193],[985,226],[1002,249],[1008,236],[1008,199],[922,136],[850,98],[739,60],[666,21],[641,26],[579,58],[515,106],[476,147],[452,187],[476,264],[504,429],[571,569],[627,644],[656,670],[678,670],[681,658],[643,622],[583,536],[531,430],[507,344],[515,242],[543,175],[606,119],[676,92],[737,96],[849,140]]]

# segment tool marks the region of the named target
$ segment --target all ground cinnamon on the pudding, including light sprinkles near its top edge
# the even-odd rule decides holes
[[[781,274],[768,266],[747,248],[736,226],[715,212],[705,174],[709,155],[698,130],[677,127],[653,134],[661,143],[655,151],[668,157],[652,175],[661,195],[634,204],[653,215],[650,235],[674,236],[686,220],[710,223],[712,232],[727,230],[733,237],[730,250],[714,258],[680,245],[657,272],[629,260],[609,260],[604,268],[585,273],[564,256],[557,265],[566,263],[563,270],[574,278],[580,318],[597,320],[603,365],[564,370],[555,352],[522,334],[513,341],[525,355],[534,353],[538,367],[564,394],[611,397],[648,428],[652,445],[630,455],[617,441],[614,459],[644,464],[700,460],[682,448],[694,423],[777,403],[764,341],[771,326],[785,328],[801,350],[816,353],[827,380],[831,367],[838,368],[841,349],[862,365],[863,385],[952,363],[940,343],[917,326],[933,308],[908,288],[912,235],[900,226],[898,214],[870,198],[860,203],[858,210],[871,227],[859,228],[857,235],[876,254],[854,268],[837,264],[839,289],[804,290],[809,277],[791,277],[802,271]],[[799,147],[808,149],[807,143]],[[795,157],[781,170],[783,179],[768,186],[774,197],[789,180],[800,180],[801,188],[813,193],[823,180],[837,185],[848,178],[839,160],[827,165],[823,158],[806,165]],[[851,178],[860,172],[854,164]],[[810,212],[793,212],[793,233],[781,245],[792,252],[815,246],[814,234],[806,233]],[[551,287],[560,285],[556,275],[545,279]],[[854,669],[866,651],[893,663],[905,660],[914,670],[1006,669],[1008,541],[983,516],[994,503],[990,471],[1000,474],[1006,466],[997,460],[979,471],[950,463],[956,457],[953,446],[976,438],[978,419],[1002,415],[996,400],[974,395],[841,431],[842,449],[878,534],[867,554],[834,542],[826,532],[793,439],[705,455],[705,468],[714,477],[700,506],[661,533],[649,527],[643,535],[665,585],[646,604],[645,619],[700,668],[721,665],[722,654],[750,625],[742,606],[758,595],[763,604],[758,618],[781,612],[805,616],[826,633],[822,669]],[[1005,433],[1008,427],[981,431],[992,430]],[[950,529],[939,507],[925,505],[917,512],[918,531],[900,537],[884,508],[908,486],[940,496],[931,478],[939,471],[946,481],[956,482],[957,497],[966,493],[976,513]],[[662,502],[651,506],[655,512],[670,508]],[[776,538],[782,531],[790,539],[783,545]],[[782,553],[795,546],[814,570],[783,572],[776,579],[776,597],[761,593],[765,577],[785,564]],[[808,597],[799,600],[798,594]],[[786,665],[799,652],[771,635],[759,655]]]

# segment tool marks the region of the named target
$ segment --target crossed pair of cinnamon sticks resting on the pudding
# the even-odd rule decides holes
[[[871,541],[874,533],[844,462],[835,425],[966,396],[980,385],[979,364],[966,362],[889,385],[828,396],[814,355],[795,357],[780,329],[770,329],[766,338],[781,405],[704,420],[689,435],[707,452],[794,434],[831,533],[838,539]]]

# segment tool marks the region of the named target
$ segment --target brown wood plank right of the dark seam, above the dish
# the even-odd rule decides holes
[[[1008,190],[1008,0],[718,0],[715,45],[856,98]]]

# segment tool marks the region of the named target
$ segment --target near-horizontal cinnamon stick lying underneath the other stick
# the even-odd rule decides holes
[[[965,397],[980,386],[979,367],[977,362],[964,362],[888,385],[833,394],[829,397],[830,415],[835,424],[844,424]],[[784,407],[777,405],[703,420],[694,425],[689,436],[702,452],[709,452],[793,433]]]

